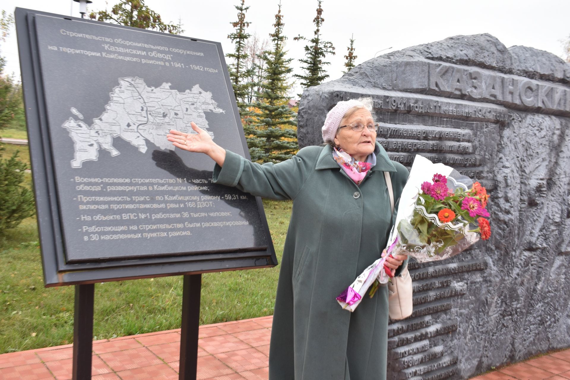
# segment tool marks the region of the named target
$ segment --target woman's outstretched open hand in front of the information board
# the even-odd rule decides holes
[[[190,126],[196,133],[185,133],[172,129],[166,135],[166,139],[172,142],[176,148],[188,150],[188,152],[205,153],[219,166],[223,166],[226,150],[216,144],[210,135],[198,127],[195,122],[191,122]]]

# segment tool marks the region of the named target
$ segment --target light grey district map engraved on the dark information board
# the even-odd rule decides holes
[[[113,147],[113,138],[120,137],[136,146],[139,152],[146,152],[146,141],[161,149],[174,149],[166,140],[170,129],[195,133],[190,122],[194,121],[214,137],[208,128],[205,112],[225,112],[218,108],[211,92],[203,91],[200,85],[191,90],[178,92],[170,89],[170,83],[160,87],[148,87],[139,77],[119,78],[119,85],[109,94],[111,100],[105,105],[101,116],[93,119],[92,125],[70,117],[63,123],[74,141],[75,156],[71,167],[82,167],[84,161],[96,161],[99,149],[103,148],[117,156],[120,152]],[[71,112],[83,119],[79,111]]]

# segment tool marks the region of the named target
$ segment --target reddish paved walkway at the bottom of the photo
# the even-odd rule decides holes
[[[202,380],[268,378],[272,317],[200,326]],[[93,342],[92,379],[178,379],[180,329]],[[0,380],[71,379],[72,345],[0,355]],[[570,349],[502,367],[472,380],[568,380]],[[315,379],[318,380],[318,379]]]

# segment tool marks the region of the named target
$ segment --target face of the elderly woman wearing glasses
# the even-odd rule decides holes
[[[340,125],[349,125],[353,122],[361,122],[364,125],[373,124],[374,119],[370,111],[365,108],[359,109],[351,117],[343,119]],[[365,161],[368,155],[374,152],[376,143],[376,131],[364,127],[360,132],[352,130],[350,126],[339,128],[335,136],[335,144],[359,161]]]

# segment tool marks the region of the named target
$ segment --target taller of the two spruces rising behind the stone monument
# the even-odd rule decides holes
[[[323,25],[324,18],[323,18],[323,8],[321,7],[322,1],[319,0],[319,7],[317,8],[317,15],[313,19],[315,23],[315,36],[311,39],[305,38],[301,35],[296,36],[294,40],[306,40],[310,42],[310,45],[305,46],[305,59],[300,59],[300,62],[304,63],[302,67],[305,71],[304,75],[295,74],[295,77],[298,77],[302,80],[301,85],[305,88],[316,86],[317,84],[321,84],[323,80],[328,78],[327,71],[324,69],[324,66],[327,64],[331,64],[330,62],[325,62],[324,59],[326,58],[327,54],[335,54],[335,47],[332,46],[332,42],[325,41],[321,39],[321,31],[320,28]]]

